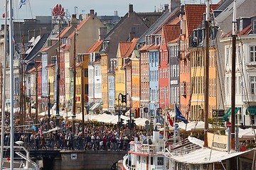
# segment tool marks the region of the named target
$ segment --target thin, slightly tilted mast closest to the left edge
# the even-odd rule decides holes
[[[0,154],[0,169],[3,169],[3,158],[4,158],[4,115],[5,115],[5,90],[6,89],[6,49],[7,49],[7,0],[5,0],[5,18],[4,18],[4,56],[2,60],[2,107],[1,107],[1,154]]]

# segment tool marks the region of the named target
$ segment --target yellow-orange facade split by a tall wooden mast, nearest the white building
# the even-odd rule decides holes
[[[203,108],[205,107],[205,59],[204,48],[191,49],[191,120],[203,120]],[[216,109],[216,67],[215,49],[210,48],[209,52],[209,118]]]

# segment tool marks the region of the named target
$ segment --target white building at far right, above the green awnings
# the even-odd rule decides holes
[[[235,57],[235,113],[240,125],[256,125],[256,16],[238,18]],[[225,46],[225,110],[231,106],[232,38],[220,42]],[[252,122],[250,122],[252,120]]]

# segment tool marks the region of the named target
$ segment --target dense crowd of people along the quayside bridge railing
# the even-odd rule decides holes
[[[134,137],[142,135],[143,129],[128,127],[118,128],[117,125],[102,123],[76,123],[73,130],[72,122],[68,120],[41,119],[39,125],[24,129],[15,128],[15,141],[23,141],[30,149],[92,149],[92,150],[128,150],[129,142]],[[75,132],[73,134],[73,132]],[[132,132],[132,135],[131,135]],[[9,145],[9,134],[6,133],[4,145]]]

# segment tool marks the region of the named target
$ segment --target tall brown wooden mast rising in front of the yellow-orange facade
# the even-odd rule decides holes
[[[209,0],[206,2],[206,67],[205,67],[205,77],[206,77],[206,83],[205,83],[205,92],[204,92],[204,98],[205,98],[205,129],[204,129],[204,147],[208,147],[208,138],[207,138],[207,130],[208,130],[208,113],[209,113],[209,24],[210,22],[210,3]]]

